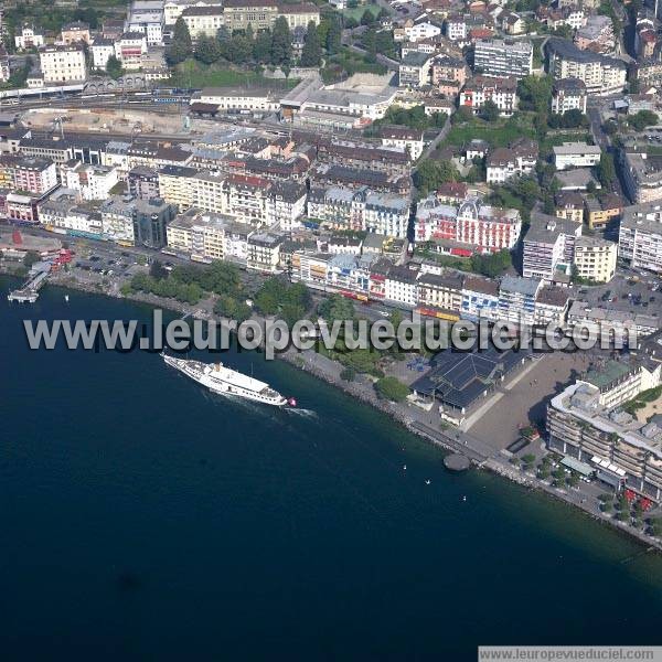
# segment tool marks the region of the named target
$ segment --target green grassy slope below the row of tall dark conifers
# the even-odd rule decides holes
[[[191,87],[194,89],[202,87],[247,87],[250,85],[290,89],[298,82],[293,78],[287,81],[266,78],[250,70],[238,70],[223,64],[207,66],[195,60],[188,60],[177,65],[169,84],[174,87]]]

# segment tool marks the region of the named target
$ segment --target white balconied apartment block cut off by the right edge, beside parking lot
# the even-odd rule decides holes
[[[662,273],[662,204],[645,203],[623,209],[618,252],[634,268]]]

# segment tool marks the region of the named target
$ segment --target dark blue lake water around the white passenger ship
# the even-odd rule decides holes
[[[147,353],[30,352],[21,323],[149,313],[51,287],[0,301],[2,660],[662,643],[659,557],[499,478],[447,473],[288,365],[224,359],[309,414],[211,396]]]

